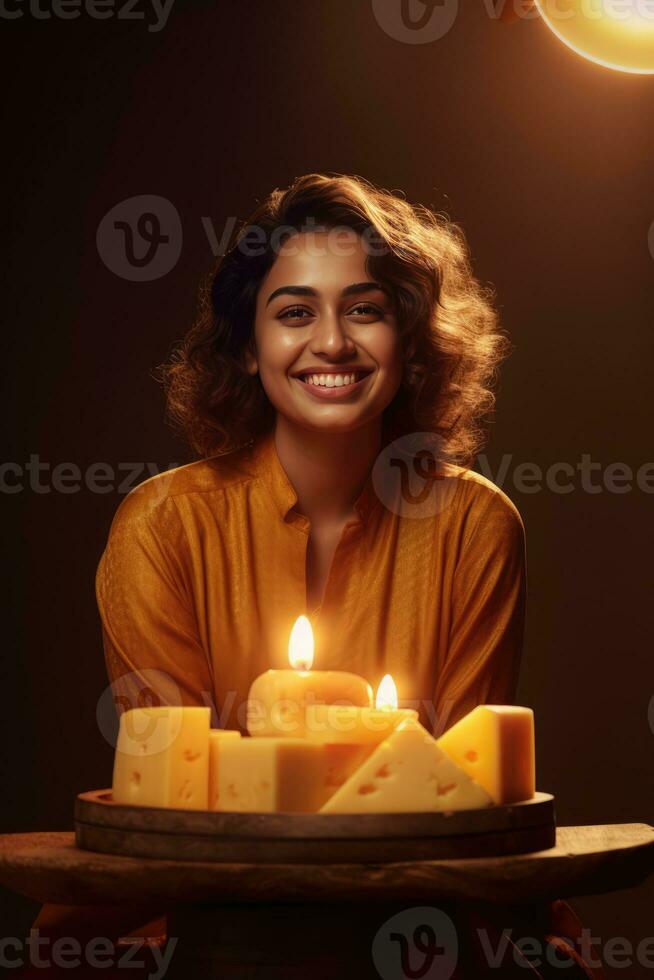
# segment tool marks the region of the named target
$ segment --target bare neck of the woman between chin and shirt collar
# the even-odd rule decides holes
[[[278,415],[274,438],[301,514],[312,524],[354,516],[354,502],[381,449],[380,419],[351,432],[316,432]]]

